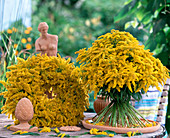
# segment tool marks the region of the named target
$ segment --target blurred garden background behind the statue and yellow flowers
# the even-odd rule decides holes
[[[14,0],[11,6],[16,13],[5,5],[0,0],[0,80],[6,80],[7,67],[17,63],[16,57],[27,59],[35,54],[40,22],[47,22],[48,33],[58,35],[58,53],[70,57],[76,66],[76,51],[118,29],[130,32],[170,69],[170,0]],[[93,93],[89,100],[88,111],[93,112]],[[4,103],[0,96],[0,107]],[[166,116],[170,133],[170,106]]]

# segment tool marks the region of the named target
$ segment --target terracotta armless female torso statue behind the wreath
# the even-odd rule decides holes
[[[41,36],[35,42],[36,52],[40,52],[42,55],[46,53],[47,56],[56,56],[58,36],[47,33],[48,24],[46,22],[41,22],[38,25],[38,31],[41,33]]]

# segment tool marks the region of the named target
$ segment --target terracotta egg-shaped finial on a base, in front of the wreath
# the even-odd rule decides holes
[[[10,130],[37,132],[38,127],[30,128],[31,125],[28,124],[28,121],[30,121],[33,118],[33,115],[34,115],[34,110],[31,101],[28,98],[22,98],[21,100],[19,100],[15,108],[15,116],[19,120],[20,124],[11,126]]]

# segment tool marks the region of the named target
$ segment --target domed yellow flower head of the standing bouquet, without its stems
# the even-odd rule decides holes
[[[160,90],[158,83],[165,83],[169,77],[169,70],[161,61],[128,32],[111,30],[98,37],[92,47],[76,54],[79,54],[77,61],[83,63],[83,81],[95,91],[95,96],[103,87],[108,92],[111,89],[120,92],[124,86],[131,92],[142,88],[147,92],[149,86]]]

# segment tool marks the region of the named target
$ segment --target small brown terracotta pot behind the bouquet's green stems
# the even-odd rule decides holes
[[[106,99],[105,96],[98,95],[97,99],[94,101],[93,107],[95,112],[98,114],[103,108],[105,108],[109,104],[109,100]]]

